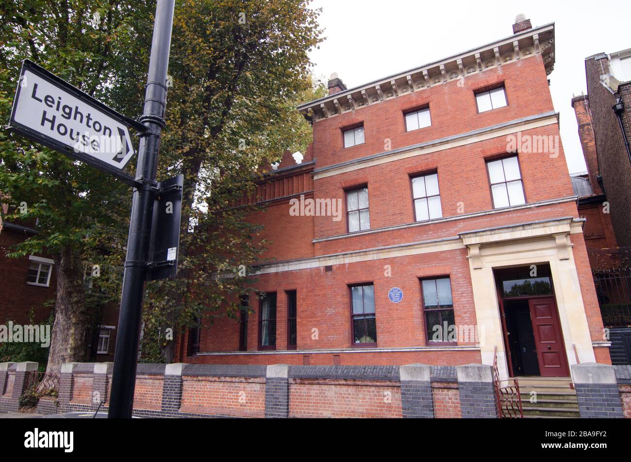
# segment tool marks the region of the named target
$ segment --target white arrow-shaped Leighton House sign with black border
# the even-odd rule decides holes
[[[129,127],[139,122],[25,59],[9,129],[70,157],[121,172],[134,156]]]

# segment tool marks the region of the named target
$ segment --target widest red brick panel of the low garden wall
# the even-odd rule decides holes
[[[290,417],[401,417],[398,382],[290,379]]]

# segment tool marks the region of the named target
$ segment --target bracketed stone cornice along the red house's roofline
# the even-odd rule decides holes
[[[298,106],[298,110],[310,121],[318,121],[538,54],[543,57],[546,74],[550,74],[555,63],[554,50],[554,23],[550,23],[440,61],[310,101]]]

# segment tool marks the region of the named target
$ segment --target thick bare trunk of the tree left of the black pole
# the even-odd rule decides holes
[[[80,254],[76,249],[64,247],[55,263],[57,300],[47,372],[59,372],[65,362],[81,362],[86,354],[88,312]]]

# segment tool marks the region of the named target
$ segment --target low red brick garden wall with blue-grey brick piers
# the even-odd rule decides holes
[[[0,412],[15,412],[37,363],[0,363]],[[572,365],[581,417],[631,418],[631,366]],[[242,418],[497,418],[489,365],[139,364],[134,415]],[[107,412],[111,363],[64,364],[37,412]],[[602,396],[601,396],[602,395]]]

